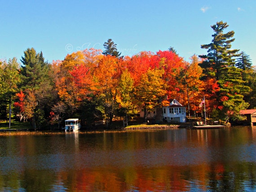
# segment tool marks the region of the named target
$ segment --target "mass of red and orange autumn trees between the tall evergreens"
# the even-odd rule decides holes
[[[93,97],[93,110],[111,126],[117,112],[131,115],[143,106],[146,115],[160,106],[159,100],[165,96],[183,105],[191,103],[191,109],[198,110],[203,83],[195,57],[189,64],[172,51],[117,58],[86,49],[67,55],[63,61],[54,61],[52,67],[60,101],[70,114]]]

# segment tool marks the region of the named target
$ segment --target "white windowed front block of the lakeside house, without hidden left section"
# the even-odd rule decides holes
[[[183,107],[176,99],[169,101],[169,106],[162,107],[163,118],[167,122],[186,122],[186,108]]]

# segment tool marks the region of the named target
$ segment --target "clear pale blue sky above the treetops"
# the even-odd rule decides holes
[[[0,0],[0,59],[42,51],[49,62],[112,39],[122,55],[170,46],[186,61],[205,54],[211,25],[227,22],[232,48],[256,65],[256,0]]]

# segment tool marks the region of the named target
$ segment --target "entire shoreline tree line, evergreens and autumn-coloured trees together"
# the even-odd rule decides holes
[[[255,108],[256,71],[250,57],[231,49],[234,31],[224,33],[226,22],[211,26],[214,34],[207,55],[184,61],[177,51],[139,52],[120,56],[112,39],[104,50],[85,49],[68,54],[63,61],[48,63],[34,48],[0,63],[0,118],[13,115],[31,120],[34,128],[61,125],[77,117],[90,124],[114,116],[131,117],[139,107],[146,114],[175,98],[187,106],[187,114],[202,112],[206,99],[209,118],[242,120],[239,111]]]

